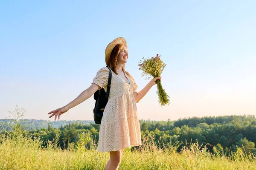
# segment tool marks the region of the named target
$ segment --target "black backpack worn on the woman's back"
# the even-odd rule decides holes
[[[96,124],[101,123],[104,108],[108,102],[109,90],[110,90],[110,85],[111,85],[111,77],[112,77],[111,69],[109,67],[108,67],[108,69],[109,69],[109,74],[108,74],[107,92],[105,92],[104,88],[102,88],[102,89],[96,91],[93,95],[93,98],[96,100],[95,106],[93,109],[93,118],[94,118],[94,122]]]

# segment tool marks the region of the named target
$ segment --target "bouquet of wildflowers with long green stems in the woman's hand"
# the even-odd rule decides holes
[[[164,68],[166,67],[166,64],[160,59],[160,56],[157,54],[156,57],[151,57],[148,59],[144,59],[143,61],[140,60],[140,64],[138,65],[140,70],[143,71],[141,76],[147,77],[146,79],[150,79],[151,77],[160,77],[161,73],[163,72]],[[159,103],[161,106],[164,106],[166,104],[169,105],[169,96],[166,94],[165,90],[163,89],[163,86],[159,79],[157,79],[157,94]]]

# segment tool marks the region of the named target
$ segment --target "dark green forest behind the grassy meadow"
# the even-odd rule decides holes
[[[57,140],[58,146],[63,149],[69,145],[79,147],[81,144],[90,149],[90,144],[97,144],[99,138],[100,125],[93,121],[71,121],[68,123],[63,121],[63,125],[61,125],[61,121],[48,122],[47,127],[32,128],[33,130],[26,130],[27,125],[32,125],[24,123],[26,121],[31,120],[20,119],[18,121],[24,130],[24,135],[40,138],[44,141],[43,145],[48,140]],[[54,123],[58,123],[59,126],[54,128]],[[176,121],[169,119],[168,121],[151,121],[148,119],[140,120],[140,125],[142,138],[154,136],[154,141],[160,148],[179,143],[177,151],[180,151],[184,144],[198,143],[202,147],[207,146],[210,152],[215,146],[223,155],[227,155],[230,151],[235,152],[237,147],[243,147],[248,153],[256,153],[256,118],[254,115],[192,117]],[[11,130],[6,130],[6,127],[11,127],[10,121],[9,123],[1,121],[1,133],[12,133]]]

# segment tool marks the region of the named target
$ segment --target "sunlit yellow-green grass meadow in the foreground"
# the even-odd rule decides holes
[[[1,170],[104,170],[109,153],[99,153],[96,146],[79,150],[70,145],[61,150],[55,142],[42,141],[22,133],[1,135]],[[190,144],[177,153],[178,145],[159,149],[154,137],[143,138],[140,150],[126,148],[119,170],[256,170],[256,157],[246,154],[242,148],[230,156],[212,154],[206,147]]]

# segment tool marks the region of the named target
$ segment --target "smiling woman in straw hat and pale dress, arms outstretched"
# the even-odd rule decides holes
[[[110,158],[105,170],[117,170],[121,162],[122,152],[125,148],[141,145],[140,122],[137,117],[136,103],[142,99],[149,89],[156,84],[161,77],[151,81],[137,92],[137,84],[133,77],[125,71],[125,63],[128,60],[127,43],[123,37],[118,37],[108,44],[105,50],[105,62],[112,71],[112,80],[108,103],[104,109],[99,130],[99,152],[109,152]],[[107,89],[108,67],[101,68],[92,85],[83,91],[76,99],[62,108],[51,111],[49,116],[58,116],[66,113],[70,108],[79,105],[90,98],[102,87]]]

